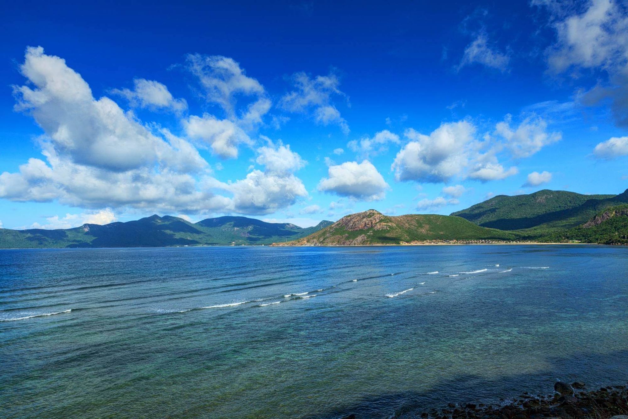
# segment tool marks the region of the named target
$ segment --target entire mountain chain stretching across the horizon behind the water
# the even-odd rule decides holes
[[[241,216],[190,223],[153,215],[66,230],[0,229],[0,249],[528,241],[628,244],[628,189],[619,195],[547,189],[528,195],[500,195],[449,216],[387,216],[368,210],[308,228]]]

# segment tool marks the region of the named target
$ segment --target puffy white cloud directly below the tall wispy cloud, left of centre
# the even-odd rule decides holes
[[[236,123],[219,120],[208,113],[183,120],[183,128],[188,137],[198,140],[200,145],[209,147],[212,153],[223,159],[236,159],[238,145],[252,144],[251,138]]]

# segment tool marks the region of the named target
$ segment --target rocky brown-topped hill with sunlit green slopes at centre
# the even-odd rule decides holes
[[[427,240],[515,240],[516,235],[447,215],[387,216],[368,210],[344,216],[319,232],[276,245],[379,245]]]

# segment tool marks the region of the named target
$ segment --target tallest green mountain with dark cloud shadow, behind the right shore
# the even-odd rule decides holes
[[[452,213],[479,226],[519,230],[521,237],[543,237],[585,223],[599,211],[628,203],[628,189],[619,195],[582,195],[544,189],[533,194],[499,195]]]

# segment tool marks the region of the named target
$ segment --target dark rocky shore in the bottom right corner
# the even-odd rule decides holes
[[[628,419],[628,389],[626,386],[607,386],[588,389],[584,383],[554,385],[555,393],[548,396],[529,394],[499,405],[484,403],[449,403],[440,410],[416,413],[426,419]],[[403,413],[401,416],[406,416]],[[392,417],[398,417],[394,415]],[[357,415],[342,419],[360,419]]]

